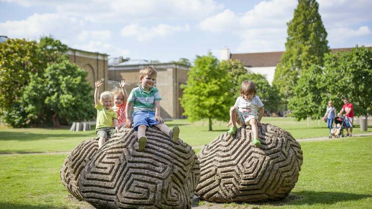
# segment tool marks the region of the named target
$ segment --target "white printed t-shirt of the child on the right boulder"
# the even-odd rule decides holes
[[[263,106],[263,104],[258,96],[253,96],[251,100],[245,100],[242,96],[239,96],[234,106],[238,107],[239,111],[244,115],[258,116],[258,108]]]

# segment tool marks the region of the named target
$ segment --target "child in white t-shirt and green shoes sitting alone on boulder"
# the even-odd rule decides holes
[[[253,140],[252,145],[260,146],[258,139],[258,125],[261,125],[263,116],[263,104],[257,96],[257,90],[253,81],[243,81],[240,88],[240,95],[234,106],[230,108],[230,121],[226,127],[233,125],[228,133],[235,134],[237,125],[249,125],[252,128]]]

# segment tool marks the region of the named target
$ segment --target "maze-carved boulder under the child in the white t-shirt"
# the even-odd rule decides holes
[[[300,144],[283,129],[258,127],[261,146],[250,144],[250,127],[233,136],[225,133],[198,153],[197,195],[212,202],[253,202],[285,198],[299,177],[303,162]]]

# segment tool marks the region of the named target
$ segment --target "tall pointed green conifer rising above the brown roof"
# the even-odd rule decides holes
[[[323,66],[324,53],[329,52],[327,32],[323,26],[316,0],[298,0],[293,19],[287,23],[286,51],[276,66],[273,85],[286,100],[305,69],[316,64]]]

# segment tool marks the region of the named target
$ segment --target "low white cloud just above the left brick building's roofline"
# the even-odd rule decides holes
[[[112,57],[130,56],[130,50],[121,49],[101,41],[89,41],[87,44],[75,44],[72,45],[72,48],[88,52],[108,53]]]

